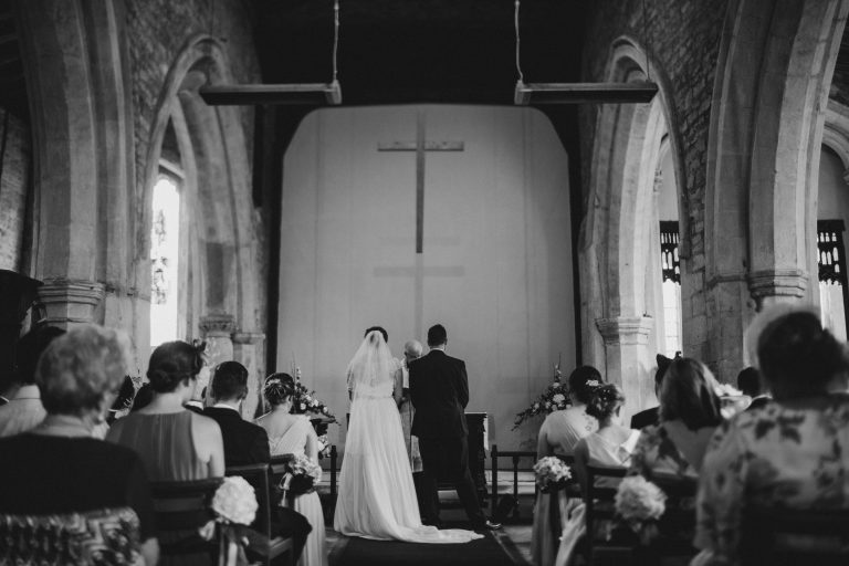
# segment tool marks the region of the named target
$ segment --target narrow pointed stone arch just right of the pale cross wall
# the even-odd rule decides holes
[[[579,248],[581,319],[594,321],[597,329],[585,333],[584,359],[604,368],[611,382],[622,386],[629,415],[653,396],[648,376],[654,361],[648,336],[656,324],[646,311],[646,250],[656,242],[650,242],[653,232],[641,219],[652,207],[664,136],[672,153],[675,186],[683,179],[683,160],[665,75],[654,65],[647,69],[647,56],[636,41],[619,38],[614,42],[606,80],[640,81],[649,75],[660,85],[651,104],[605,105],[599,112]],[[683,201],[680,206],[686,208]],[[679,213],[679,218],[685,234],[688,216]]]

